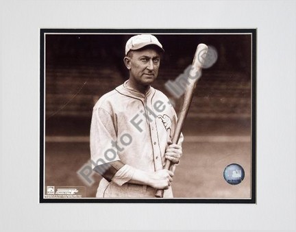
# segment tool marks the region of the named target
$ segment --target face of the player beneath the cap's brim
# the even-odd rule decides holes
[[[133,51],[130,57],[130,81],[149,86],[158,76],[160,53],[155,49]]]

